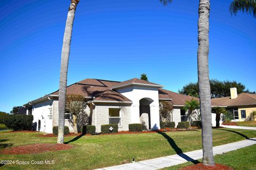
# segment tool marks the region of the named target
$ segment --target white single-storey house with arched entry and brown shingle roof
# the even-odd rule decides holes
[[[85,79],[67,87],[67,94],[80,94],[86,98],[86,114],[89,124],[100,132],[102,124],[118,124],[118,131],[129,130],[131,123],[143,123],[147,129],[159,129],[159,101],[172,101],[172,121],[187,121],[183,105],[186,100],[198,98],[181,95],[163,89],[163,86],[137,78],[118,82],[99,79]],[[58,91],[29,101],[23,105],[27,115],[34,116],[34,129],[52,133],[52,127],[58,126]],[[65,116],[65,125],[70,131],[69,114]]]

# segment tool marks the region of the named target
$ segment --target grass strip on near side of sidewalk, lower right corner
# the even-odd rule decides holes
[[[236,170],[254,170],[256,169],[256,145],[237,149],[227,152],[223,155],[215,155],[215,163],[233,167]],[[202,162],[202,159],[199,159]],[[185,163],[176,166],[164,168],[163,170],[178,170],[182,167],[193,165],[193,163]]]

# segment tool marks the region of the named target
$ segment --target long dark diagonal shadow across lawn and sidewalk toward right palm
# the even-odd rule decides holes
[[[187,156],[186,154],[183,154],[182,150],[176,145],[176,143],[174,142],[174,140],[169,137],[169,135],[167,135],[164,132],[158,132],[158,134],[161,134],[165,139],[167,139],[167,141],[169,142],[169,144],[171,145],[171,147],[175,150],[175,152],[177,153],[177,155],[179,155],[180,157],[182,157],[183,159],[186,159],[188,162],[192,162],[193,164],[198,164],[200,163],[198,160],[195,160],[193,158],[190,158],[189,156]]]

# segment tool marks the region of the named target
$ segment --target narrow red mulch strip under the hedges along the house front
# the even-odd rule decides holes
[[[130,131],[119,131],[116,133],[101,133],[101,134],[97,134],[97,135],[109,135],[109,134],[137,134],[137,133],[159,133],[159,132],[177,132],[177,131],[189,131],[189,130],[194,130],[194,129],[177,129],[177,128],[165,128],[165,129],[159,129],[157,131],[142,131],[142,132],[130,132]],[[65,137],[73,137],[73,136],[79,136],[82,135],[82,133],[70,133],[70,134],[65,134]],[[92,135],[92,134],[85,134],[85,135]],[[41,134],[38,135],[38,137],[57,137],[54,134]]]

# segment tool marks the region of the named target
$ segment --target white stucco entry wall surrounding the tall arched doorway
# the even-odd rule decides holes
[[[140,99],[149,98],[153,100],[149,105],[151,129],[160,129],[158,88],[129,86],[117,89],[117,91],[133,102],[131,105],[131,123],[140,123]]]

